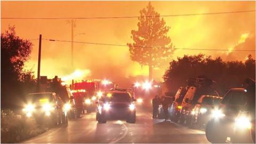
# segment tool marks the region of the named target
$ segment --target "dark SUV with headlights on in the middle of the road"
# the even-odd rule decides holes
[[[135,99],[125,91],[110,91],[99,100],[96,119],[106,123],[108,119],[126,119],[127,123],[135,123]]]

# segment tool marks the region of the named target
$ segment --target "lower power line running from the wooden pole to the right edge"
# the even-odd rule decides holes
[[[69,42],[69,43],[72,42],[72,41],[65,41],[65,40],[59,40],[59,39],[45,39],[45,38],[42,38],[42,39],[45,40],[45,41],[54,41],[54,42]],[[76,42],[76,41],[74,41],[73,43],[129,47],[129,46],[124,45],[124,44],[107,44],[107,43]],[[170,47],[154,47],[154,46],[140,46],[140,45],[135,45],[133,47],[156,48],[156,49],[174,49],[174,50],[230,51],[230,50],[225,50],[225,49],[189,49],[189,48],[177,48],[177,47],[170,48]],[[231,50],[231,51],[255,52],[255,50]]]

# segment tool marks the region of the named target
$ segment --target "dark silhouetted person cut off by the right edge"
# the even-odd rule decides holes
[[[246,78],[243,81],[243,86],[246,90],[246,104],[244,108],[250,112],[252,118],[251,136],[253,143],[255,143],[255,81],[251,78]]]

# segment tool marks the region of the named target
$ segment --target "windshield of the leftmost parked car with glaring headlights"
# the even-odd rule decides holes
[[[35,94],[28,94],[26,97],[27,101],[31,102],[51,102],[53,100],[52,93],[35,93]]]

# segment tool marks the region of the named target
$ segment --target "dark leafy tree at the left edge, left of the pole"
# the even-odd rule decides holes
[[[35,83],[33,73],[23,71],[31,49],[32,43],[17,36],[14,26],[9,26],[9,30],[1,33],[1,107],[11,105],[8,102],[17,102],[14,99],[21,97],[23,90],[27,90],[24,86],[31,87],[30,84]]]

